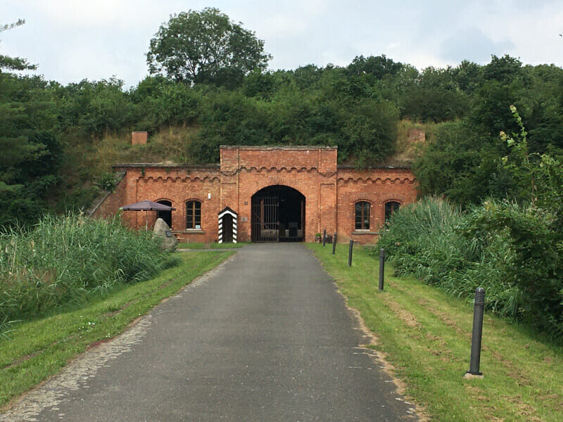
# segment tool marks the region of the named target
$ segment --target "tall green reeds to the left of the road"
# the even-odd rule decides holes
[[[148,279],[170,264],[160,241],[118,219],[44,217],[0,232],[0,330],[116,284]]]

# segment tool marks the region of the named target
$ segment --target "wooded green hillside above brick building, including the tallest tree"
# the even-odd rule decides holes
[[[521,200],[517,177],[499,165],[507,146],[498,133],[519,130],[511,104],[531,153],[563,155],[555,65],[492,56],[417,70],[381,55],[266,71],[268,58],[253,32],[215,8],[172,15],[151,41],[153,75],[131,89],[115,77],[63,86],[20,75],[32,68],[25,59],[0,56],[0,225],[51,206],[88,207],[118,160],[203,164],[219,160],[222,144],[307,144],[338,146],[341,163],[369,166],[405,159],[398,139],[414,126],[427,130],[413,167],[420,193],[462,206]],[[172,138],[175,129],[186,135]],[[132,130],[162,141],[131,148]]]

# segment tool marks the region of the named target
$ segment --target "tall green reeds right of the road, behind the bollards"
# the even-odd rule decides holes
[[[423,198],[393,214],[379,245],[400,275],[412,275],[460,298],[486,289],[487,306],[517,316],[520,290],[507,280],[514,259],[509,239],[464,236],[468,215],[440,198]]]

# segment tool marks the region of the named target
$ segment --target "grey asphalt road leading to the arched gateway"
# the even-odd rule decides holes
[[[412,421],[312,253],[254,244],[0,421]]]

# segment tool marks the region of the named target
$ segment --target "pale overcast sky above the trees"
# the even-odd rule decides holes
[[[0,0],[0,54],[63,84],[147,74],[145,54],[170,14],[213,6],[265,41],[270,69],[379,56],[415,65],[485,64],[491,54],[563,67],[559,0]]]

